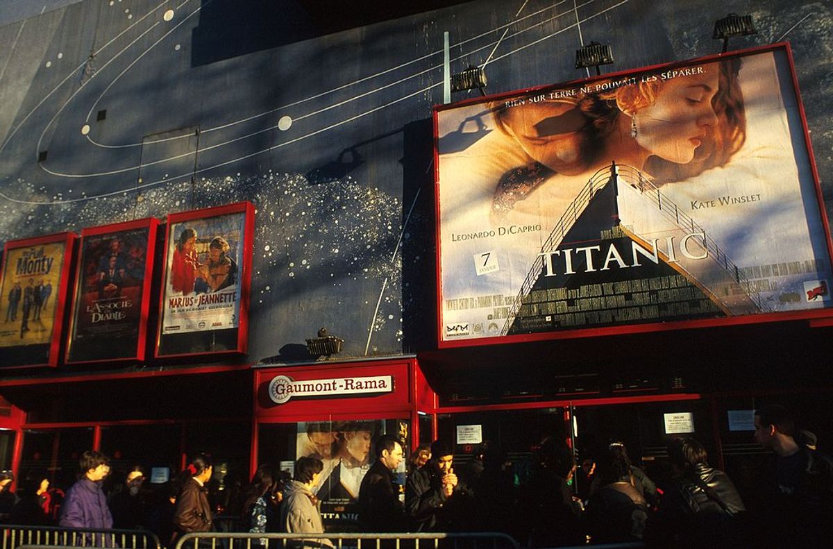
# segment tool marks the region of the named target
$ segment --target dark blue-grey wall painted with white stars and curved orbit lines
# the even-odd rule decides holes
[[[831,211],[829,2],[357,2],[360,27],[314,3],[86,0],[0,27],[0,239],[252,201],[250,360],[308,358],[320,327],[342,357],[416,352],[436,338],[443,32],[451,71],[485,64],[497,93],[587,77],[591,40],[606,72],[719,52],[728,12],[758,29],[731,49],[791,42]]]

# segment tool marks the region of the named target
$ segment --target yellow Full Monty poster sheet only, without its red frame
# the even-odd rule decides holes
[[[66,249],[63,241],[7,248],[0,288],[0,347],[52,342]]]

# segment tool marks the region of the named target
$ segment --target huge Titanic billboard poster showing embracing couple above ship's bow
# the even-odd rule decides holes
[[[788,46],[436,107],[440,341],[831,306]]]

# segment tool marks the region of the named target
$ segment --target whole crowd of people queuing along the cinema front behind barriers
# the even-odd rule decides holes
[[[374,442],[375,460],[362,478],[357,501],[361,532],[505,532],[526,547],[642,541],[646,547],[821,547],[831,539],[833,460],[816,449],[816,437],[797,432],[784,407],[756,411],[755,440],[773,451],[760,491],[747,506],[734,483],[711,467],[706,448],[691,437],[672,439],[670,481],[661,487],[631,462],[624,442],[613,440],[577,466],[565,442],[548,438],[534,448],[526,480],[506,453],[484,444],[459,471],[454,448],[437,440],[407,458],[404,489],[397,471],[405,444],[387,434]],[[262,465],[239,492],[238,532],[300,535],[306,546],[334,547],[325,534],[317,492],[322,459],[301,457],[294,472]],[[133,467],[120,489],[106,496],[109,460],[84,452],[80,476],[57,514],[61,527],[144,529],[171,545],[189,532],[216,525],[207,485],[210,457],[192,457],[164,499],[143,499],[144,472]],[[51,522],[49,480],[27,475],[17,494],[11,472],[0,472],[0,517],[9,524]],[[747,502],[748,503],[748,502]],[[335,532],[335,530],[333,530]],[[304,535],[316,534],[304,539]],[[336,534],[333,534],[335,537]],[[252,545],[265,547],[267,538]]]

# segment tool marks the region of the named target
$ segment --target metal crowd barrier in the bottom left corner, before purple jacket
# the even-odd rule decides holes
[[[94,528],[32,527],[2,525],[0,549],[23,546],[120,547],[121,549],[162,549],[159,538],[144,530],[96,530]]]

